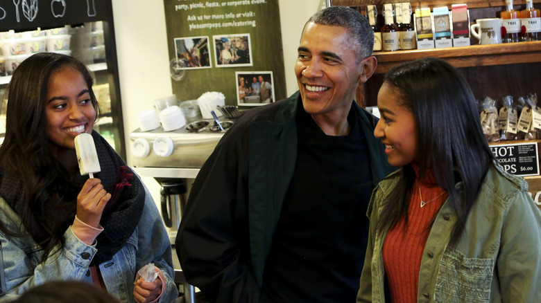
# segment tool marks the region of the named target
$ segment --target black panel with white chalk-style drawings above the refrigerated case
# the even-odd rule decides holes
[[[0,2],[0,30],[35,30],[103,21],[110,0],[9,0]]]

